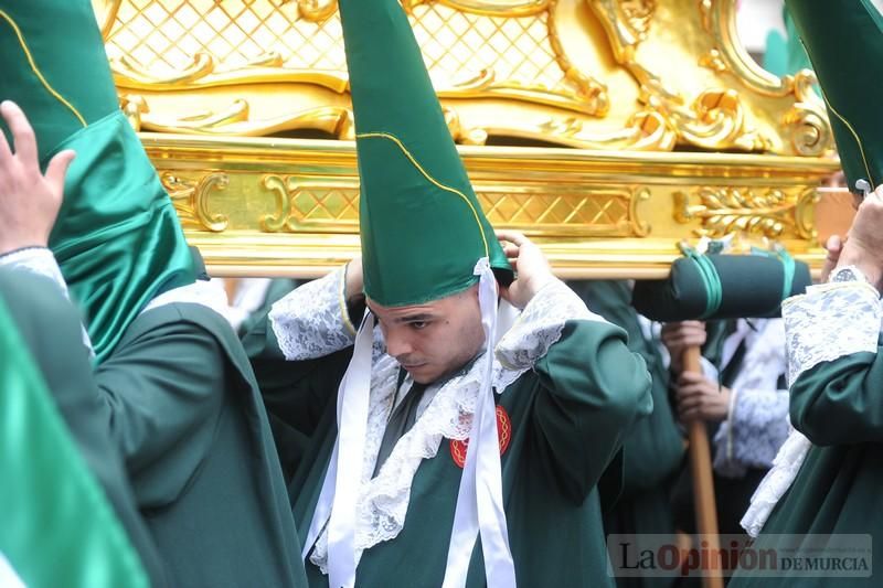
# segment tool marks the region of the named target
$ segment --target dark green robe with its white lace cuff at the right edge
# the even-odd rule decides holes
[[[858,282],[816,286],[783,307],[791,424],[812,446],[755,541],[758,549],[778,548],[784,554],[795,547],[795,538],[783,534],[870,535],[873,575],[783,571],[755,577],[741,570],[731,587],[881,586],[883,340],[877,334],[882,316],[877,296]]]

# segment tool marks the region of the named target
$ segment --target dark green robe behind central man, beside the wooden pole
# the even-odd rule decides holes
[[[628,333],[628,346],[639,353],[652,377],[653,413],[635,425],[623,451],[623,485],[618,495],[604,496],[611,509],[604,528],[618,535],[669,535],[674,543],[674,516],[669,493],[680,471],[684,442],[669,402],[669,371],[656,342],[648,340],[631,307],[631,289],[625,281],[581,280],[568,286],[588,308]],[[604,493],[602,493],[604,494]],[[658,537],[657,537],[658,541]],[[636,550],[641,547],[636,546]],[[671,586],[673,578],[619,578],[617,586]]]

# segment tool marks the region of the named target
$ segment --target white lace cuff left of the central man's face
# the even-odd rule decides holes
[[[273,304],[269,321],[286,360],[322,357],[354,343],[344,287],[345,266],[295,288]]]

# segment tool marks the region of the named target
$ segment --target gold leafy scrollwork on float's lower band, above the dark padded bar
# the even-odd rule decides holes
[[[701,188],[695,192],[699,204],[691,204],[685,192],[677,191],[674,220],[681,224],[699,221],[699,236],[722,237],[730,233],[755,234],[778,238],[790,232],[800,238],[813,238],[811,206],[815,191],[799,197],[783,190],[765,191],[738,188]]]

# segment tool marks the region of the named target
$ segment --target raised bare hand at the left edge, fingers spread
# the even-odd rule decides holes
[[[0,255],[22,247],[46,247],[64,194],[64,177],[74,159],[61,151],[40,171],[36,137],[14,103],[0,104],[13,147],[0,132]],[[14,151],[13,151],[14,149]]]

